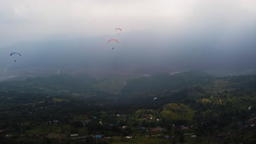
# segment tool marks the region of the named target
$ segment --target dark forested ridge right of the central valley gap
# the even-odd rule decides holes
[[[140,79],[128,80],[122,89],[124,93],[162,91],[186,86],[199,86],[213,79],[213,76],[200,70],[193,70],[176,75],[158,74]]]

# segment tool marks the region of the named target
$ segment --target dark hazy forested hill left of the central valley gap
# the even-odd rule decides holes
[[[66,74],[49,77],[27,78],[25,81],[0,82],[2,91],[18,91],[30,93],[66,94],[69,92],[86,93],[98,81],[86,75],[71,76]]]

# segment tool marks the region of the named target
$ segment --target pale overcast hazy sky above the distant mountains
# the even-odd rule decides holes
[[[255,7],[255,0],[0,0],[0,46],[113,34],[115,28],[167,35],[218,30],[225,42],[255,30]]]

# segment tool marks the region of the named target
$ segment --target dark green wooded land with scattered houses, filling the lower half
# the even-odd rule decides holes
[[[256,75],[159,74],[118,93],[102,83],[65,74],[1,82],[0,143],[256,142]]]

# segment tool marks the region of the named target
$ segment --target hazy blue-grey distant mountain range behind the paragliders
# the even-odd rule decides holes
[[[52,41],[24,41],[1,47],[0,68],[9,73],[35,71],[33,75],[52,75],[47,70],[71,73],[88,68],[137,68],[135,74],[159,74],[170,69],[202,69],[230,71],[255,69],[254,35],[244,43],[218,46],[219,33],[183,32],[179,37],[155,32],[133,31],[119,35],[120,43],[112,49],[107,41],[117,35]],[[220,41],[221,42],[221,41]],[[217,46],[216,46],[217,45]],[[11,52],[21,53],[14,59]],[[14,62],[14,60],[17,60]],[[165,65],[165,67],[158,66]]]

